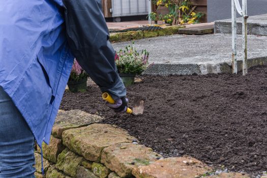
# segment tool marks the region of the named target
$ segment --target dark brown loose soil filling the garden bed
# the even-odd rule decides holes
[[[100,90],[66,92],[61,109],[106,117],[164,156],[190,155],[215,167],[258,173],[267,170],[267,66],[242,74],[142,76],[128,97],[146,96],[142,116],[116,114]],[[131,103],[130,103],[131,106]]]

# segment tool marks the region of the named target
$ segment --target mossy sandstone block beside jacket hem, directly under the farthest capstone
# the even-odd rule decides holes
[[[65,149],[62,139],[55,138],[53,136],[51,136],[50,138],[49,145],[43,142],[42,147],[43,156],[53,163],[56,163],[58,154],[60,154]],[[39,146],[37,146],[37,151],[41,153]]]

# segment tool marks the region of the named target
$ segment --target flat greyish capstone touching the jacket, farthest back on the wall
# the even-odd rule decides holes
[[[81,110],[60,111],[57,113],[52,135],[62,138],[65,130],[87,126],[103,120],[99,115],[89,114]]]

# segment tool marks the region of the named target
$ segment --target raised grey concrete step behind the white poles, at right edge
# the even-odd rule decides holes
[[[242,18],[237,19],[237,25],[238,25],[238,34],[242,34]],[[231,19],[215,21],[214,33],[221,33],[221,34],[232,33]],[[248,18],[248,34],[267,36],[267,14],[250,16]]]

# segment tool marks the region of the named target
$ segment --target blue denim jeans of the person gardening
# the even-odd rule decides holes
[[[35,177],[34,136],[0,86],[0,178]]]

